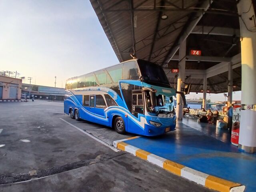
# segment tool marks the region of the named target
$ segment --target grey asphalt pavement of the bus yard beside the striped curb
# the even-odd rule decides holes
[[[61,102],[0,103],[0,192],[212,191],[113,150],[131,136],[77,122]]]

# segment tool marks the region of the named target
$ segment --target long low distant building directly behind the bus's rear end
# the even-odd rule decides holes
[[[22,95],[28,95],[35,99],[63,101],[65,89],[22,83]]]

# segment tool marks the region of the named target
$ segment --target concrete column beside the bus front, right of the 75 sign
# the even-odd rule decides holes
[[[182,88],[184,88],[185,65],[186,65],[186,40],[180,44],[180,48],[179,48],[179,65],[178,65],[179,73],[178,73],[177,91],[180,91],[180,92]],[[176,116],[177,116],[177,120],[182,120],[183,100],[180,94],[177,94]]]

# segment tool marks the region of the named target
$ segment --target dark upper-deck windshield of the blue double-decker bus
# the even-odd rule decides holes
[[[140,59],[138,60],[138,65],[144,82],[170,86],[168,78],[161,66]]]

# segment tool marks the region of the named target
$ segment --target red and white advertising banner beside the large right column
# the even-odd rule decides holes
[[[231,132],[231,143],[233,145],[238,145],[239,129],[240,129],[240,110],[241,110],[241,105],[234,104],[233,118],[232,118],[232,132]]]

